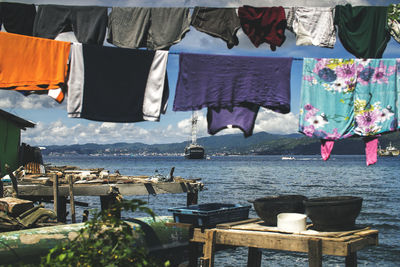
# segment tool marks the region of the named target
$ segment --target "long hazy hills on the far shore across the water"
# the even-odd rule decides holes
[[[382,148],[389,142],[400,147],[400,133],[390,133],[379,138]],[[260,132],[244,138],[242,134],[209,136],[199,138],[206,153],[211,154],[257,154],[257,155],[314,155],[320,153],[319,139],[302,134],[277,135]],[[188,142],[147,145],[143,143],[84,144],[47,146],[42,151],[49,154],[177,154],[183,153]],[[348,138],[335,142],[333,154],[364,154],[361,138]]]

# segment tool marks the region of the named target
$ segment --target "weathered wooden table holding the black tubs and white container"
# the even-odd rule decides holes
[[[219,224],[215,228],[193,228],[191,242],[203,243],[200,266],[214,266],[217,244],[248,247],[247,266],[261,266],[261,250],[273,249],[308,253],[309,266],[322,266],[322,255],[345,257],[347,267],[357,266],[357,251],[378,245],[378,231],[369,227],[346,232],[317,232],[299,234],[278,231],[259,219]],[[193,262],[193,261],[192,261]]]

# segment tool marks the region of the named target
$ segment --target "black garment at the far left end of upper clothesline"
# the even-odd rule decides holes
[[[0,3],[0,26],[9,33],[32,36],[35,15],[35,5]]]

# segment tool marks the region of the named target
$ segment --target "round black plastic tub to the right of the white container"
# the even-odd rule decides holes
[[[363,199],[355,196],[311,198],[304,201],[306,214],[318,231],[355,229]]]

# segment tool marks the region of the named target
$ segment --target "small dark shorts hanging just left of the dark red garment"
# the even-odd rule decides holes
[[[221,38],[229,49],[239,44],[240,20],[235,8],[195,7],[191,25],[198,31]]]

